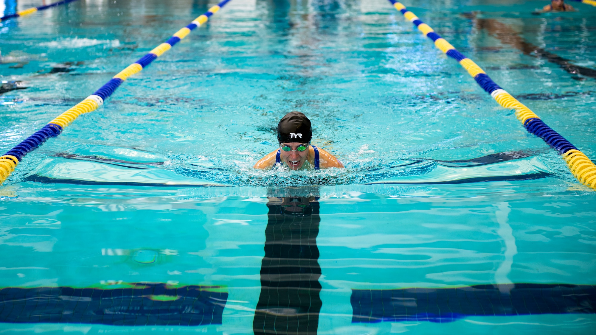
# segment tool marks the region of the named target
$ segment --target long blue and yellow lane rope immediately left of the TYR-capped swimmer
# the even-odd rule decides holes
[[[172,48],[173,45],[185,38],[188,33],[191,32],[191,30],[195,29],[201,24],[206,23],[211,15],[217,13],[217,11],[224,7],[224,5],[229,1],[230,0],[224,0],[219,2],[219,4],[209,8],[206,13],[195,18],[190,24],[188,24],[188,26],[178,30],[178,32],[172,35],[172,37],[170,37],[166,42],[160,44],[157,46],[157,48],[151,50],[138,61],[135,61],[135,63],[132,63],[126,67],[126,69],[120,71],[120,73],[118,73],[116,76],[113,76],[110,81],[101,86],[101,88],[95,91],[94,94],[89,95],[89,97],[86,97],[85,100],[60,114],[54,120],[51,120],[47,125],[44,126],[44,128],[39,129],[39,131],[36,131],[35,134],[27,137],[24,141],[20,142],[17,146],[5,153],[4,156],[0,156],[0,183],[4,182],[6,178],[8,178],[8,175],[14,171],[14,168],[17,166],[18,162],[23,160],[23,157],[29,153],[29,151],[39,147],[39,145],[45,142],[46,139],[58,136],[64,130],[64,128],[66,128],[66,126],[68,126],[81,114],[94,111],[97,109],[97,107],[103,105],[104,101],[110,97],[110,95],[116,90],[116,88],[118,88],[118,86],[120,86],[120,84],[124,82],[124,80],[141,71],[144,69],[144,67],[147,67],[152,61],[156,60],[157,57],[161,56],[164,52]]]

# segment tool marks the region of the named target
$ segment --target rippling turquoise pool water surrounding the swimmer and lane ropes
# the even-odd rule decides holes
[[[1,149],[213,4],[79,0],[0,23],[2,80],[27,87],[1,94]],[[594,69],[596,8],[573,2],[579,13],[532,15],[544,2],[404,4],[596,157],[596,79],[519,48]],[[313,120],[313,143],[346,169],[252,169],[291,110]],[[16,320],[0,323],[4,333],[591,334],[596,322],[581,300],[593,303],[593,293],[574,293],[578,306],[563,314],[536,294],[526,298],[540,313],[516,305],[520,284],[596,284],[594,191],[386,0],[232,0],[29,153],[0,196],[0,288],[192,286],[211,292],[207,305],[219,311],[200,325],[144,325],[132,302],[187,301],[154,292],[93,311],[133,315],[133,325],[40,322],[45,300],[20,311],[15,298],[0,310]],[[379,322],[356,318],[367,308],[362,292],[478,285],[492,289],[476,287],[477,296],[500,297],[489,305],[511,297],[522,315],[466,297],[457,302],[474,313],[437,320],[420,296],[380,294],[371,299],[383,306]],[[75,304],[60,309],[62,321],[92,301],[64,292],[51,298]],[[387,301],[424,311],[402,320]]]

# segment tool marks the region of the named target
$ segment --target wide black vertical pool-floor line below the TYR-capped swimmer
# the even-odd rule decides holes
[[[254,334],[316,334],[321,266],[316,197],[269,198]]]

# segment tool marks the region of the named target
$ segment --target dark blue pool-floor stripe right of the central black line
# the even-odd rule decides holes
[[[352,322],[452,322],[465,317],[594,314],[596,286],[476,285],[457,289],[352,290]]]

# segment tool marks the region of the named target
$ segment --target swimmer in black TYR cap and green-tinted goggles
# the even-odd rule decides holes
[[[280,148],[257,162],[255,169],[287,165],[292,170],[343,168],[342,162],[322,148],[311,145],[311,120],[299,111],[285,114],[277,125]]]

